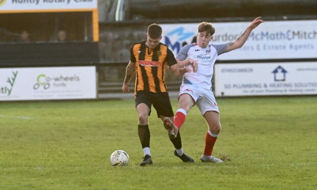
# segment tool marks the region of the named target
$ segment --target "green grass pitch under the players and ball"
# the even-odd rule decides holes
[[[133,100],[1,102],[0,189],[317,189],[317,97],[217,103],[222,130],[214,155],[223,164],[199,161],[207,125],[197,107],[181,129],[195,163],[173,155],[152,108],[153,164],[140,167]],[[128,152],[127,167],[111,167],[118,149]]]

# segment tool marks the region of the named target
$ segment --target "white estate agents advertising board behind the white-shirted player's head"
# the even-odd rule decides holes
[[[212,44],[234,41],[250,22],[215,22]],[[176,55],[184,44],[192,43],[198,23],[161,25],[162,43]],[[265,21],[253,30],[245,44],[222,54],[218,60],[258,60],[317,58],[317,20]]]

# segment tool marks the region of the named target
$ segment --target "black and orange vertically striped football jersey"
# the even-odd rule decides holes
[[[168,47],[159,43],[153,50],[145,44],[146,41],[134,43],[131,46],[130,61],[136,63],[134,93],[140,90],[150,92],[166,92],[166,63],[172,66],[177,63]]]

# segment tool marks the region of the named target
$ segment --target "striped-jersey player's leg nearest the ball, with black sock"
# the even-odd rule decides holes
[[[144,159],[140,165],[144,166],[152,163],[150,153],[150,130],[148,126],[148,116],[151,113],[151,102],[146,93],[137,93],[135,106],[139,117],[138,134],[144,153]]]

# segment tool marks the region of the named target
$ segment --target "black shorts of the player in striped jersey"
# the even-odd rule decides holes
[[[135,98],[135,107],[137,107],[140,103],[144,103],[150,108],[149,115],[151,114],[151,106],[153,104],[157,117],[160,117],[160,115],[165,117],[174,116],[168,92],[154,93],[149,91],[138,91],[137,98]]]

